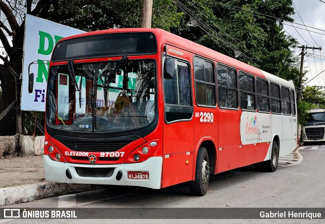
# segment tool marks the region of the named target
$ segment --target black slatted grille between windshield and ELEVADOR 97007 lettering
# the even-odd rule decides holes
[[[63,145],[74,151],[96,151],[96,152],[114,152],[120,150],[132,141],[71,141],[59,140]]]

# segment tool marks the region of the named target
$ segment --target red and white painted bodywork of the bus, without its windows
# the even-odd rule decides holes
[[[127,28],[95,31],[64,38],[57,44],[66,40],[78,39],[85,36],[141,32],[151,32],[156,37],[157,42],[156,53],[145,55],[146,58],[153,59],[157,65],[157,121],[154,129],[146,136],[135,139],[117,150],[117,152],[123,152],[122,157],[116,156],[114,159],[110,160],[102,159],[101,151],[72,150],[67,147],[67,144],[63,144],[56,138],[53,138],[54,135],[63,136],[64,133],[59,134],[59,132],[57,132],[56,134],[50,134],[47,130],[48,125],[46,125],[45,141],[47,144],[44,149],[44,163],[47,180],[68,183],[136,185],[150,188],[162,188],[196,180],[198,173],[197,156],[202,147],[208,152],[209,172],[212,174],[255,163],[267,162],[270,161],[270,159],[272,160],[271,149],[274,142],[276,142],[278,146],[277,157],[279,155],[289,154],[296,148],[297,115],[295,100],[291,99],[291,105],[293,106],[291,107],[291,112],[286,115],[281,112],[276,114],[270,111],[261,113],[257,110],[256,106],[257,93],[255,83],[257,77],[266,81],[269,85],[272,82],[279,85],[281,88],[287,88],[294,94],[295,89],[292,82],[280,79],[234,58],[225,56],[161,29]],[[165,46],[167,46],[167,48]],[[182,65],[185,63],[190,69],[192,116],[189,119],[180,119],[172,122],[167,122],[165,119],[163,65],[166,49],[168,49],[168,57],[180,61],[179,63],[182,63]],[[123,54],[111,57],[76,59],[73,62],[118,60],[121,56],[123,56]],[[144,55],[128,56],[128,60],[135,60],[138,58],[144,58]],[[213,94],[216,95],[215,105],[204,106],[198,105],[197,103],[200,101],[200,99],[196,98],[199,89],[196,87],[196,78],[194,77],[194,60],[197,58],[213,66],[215,80],[215,92]],[[50,68],[62,64],[67,64],[67,61],[53,62],[51,60]],[[236,72],[237,108],[224,108],[218,103],[217,95],[218,91],[220,91],[216,74],[218,65],[222,65]],[[239,106],[239,94],[241,93],[241,89],[239,87],[238,74],[240,71],[247,74],[249,77],[253,77],[255,93],[252,94],[254,94],[254,100],[249,97],[249,102],[251,100],[255,102],[255,110],[245,110]],[[268,99],[270,102],[271,97]],[[73,107],[77,107],[77,104],[78,102],[74,102]],[[251,105],[251,103],[249,104]],[[49,110],[49,108],[47,107],[46,110]],[[48,115],[48,112],[46,114]],[[73,122],[72,117],[73,116],[71,116],[70,121],[67,121],[67,124]],[[60,120],[58,120],[58,118],[55,119],[55,123],[60,124]],[[261,137],[263,136],[262,125],[258,126],[258,122],[262,119],[264,120],[263,128],[268,130],[267,134],[263,131],[265,136],[267,135],[265,139]],[[290,125],[288,131],[286,131],[287,125]],[[138,131],[134,131],[134,134],[137,135],[137,132]],[[286,133],[289,134],[287,135]],[[73,136],[73,133],[70,135]],[[93,140],[98,138],[99,142],[103,141],[101,137],[93,133],[90,135],[89,139]],[[251,135],[254,136],[254,138],[249,139],[248,136]],[[288,137],[285,137],[286,135]],[[49,146],[54,147],[52,152],[49,152]],[[149,152],[146,154],[143,153],[143,147],[148,147]],[[57,153],[60,154],[59,158],[55,157]],[[109,156],[109,153],[107,154]],[[135,154],[140,155],[140,160],[138,162],[135,161]],[[94,163],[92,163],[93,158],[90,158],[90,155],[95,156]],[[105,152],[102,155],[105,155]],[[118,155],[121,155],[121,153],[118,153]],[[148,161],[150,161],[150,163],[147,163]],[[156,167],[152,168],[152,166]],[[201,164],[199,164],[199,166],[201,166]],[[106,174],[101,176],[94,175],[93,172],[89,171],[89,175],[87,176],[87,171],[80,177],[76,173],[76,167],[87,168],[88,171],[93,168],[98,170],[109,168],[111,170],[108,169],[107,172],[111,172],[112,174],[109,174],[111,176],[105,176]],[[118,174],[119,171],[121,172]],[[119,177],[120,175],[121,178]],[[146,177],[145,175],[148,176]]]

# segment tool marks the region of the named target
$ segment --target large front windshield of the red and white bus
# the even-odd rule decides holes
[[[156,111],[156,62],[125,60],[122,66],[117,66],[119,62],[71,62],[51,67],[48,125],[90,133],[148,125]]]

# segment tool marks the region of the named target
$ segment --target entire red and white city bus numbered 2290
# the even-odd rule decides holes
[[[50,61],[46,180],[163,188],[275,171],[297,144],[295,86],[161,29],[61,39]]]

